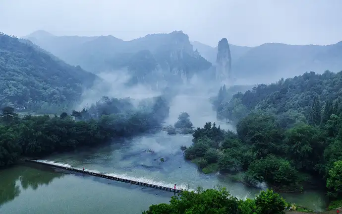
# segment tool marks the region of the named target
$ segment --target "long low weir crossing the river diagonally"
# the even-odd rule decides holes
[[[38,161],[38,160],[30,160],[30,159],[26,159],[25,161],[31,162],[31,163],[39,163],[39,164],[43,164],[43,165],[48,165],[48,166],[56,167],[56,168],[60,168],[60,169],[66,169],[66,170],[69,170],[69,171],[79,172],[79,173],[88,174],[88,175],[92,175],[92,176],[96,176],[96,177],[101,177],[101,178],[106,178],[106,179],[110,179],[110,180],[114,180],[114,181],[121,181],[121,182],[129,183],[129,184],[135,184],[135,185],[139,185],[139,186],[145,186],[145,187],[151,187],[151,188],[154,188],[154,189],[165,190],[165,191],[174,192],[174,193],[181,193],[181,192],[183,192],[183,190],[181,190],[181,189],[174,189],[174,188],[171,188],[171,187],[164,187],[164,186],[144,183],[144,182],[140,182],[140,181],[133,181],[133,180],[125,179],[125,178],[119,178],[119,177],[103,174],[101,172],[92,172],[92,171],[89,171],[89,170],[86,170],[86,169],[83,170],[83,169],[78,169],[78,168],[71,167],[71,166],[53,164],[51,162],[49,163],[49,162]]]

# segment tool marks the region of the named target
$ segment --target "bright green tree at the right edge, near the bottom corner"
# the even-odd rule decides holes
[[[334,166],[329,170],[327,188],[329,195],[336,198],[342,195],[342,160],[334,162]]]

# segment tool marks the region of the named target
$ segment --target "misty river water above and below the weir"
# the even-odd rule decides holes
[[[170,119],[174,123],[180,112],[190,114],[195,127],[215,122],[215,112],[204,97],[178,96],[173,101]],[[229,124],[217,122],[224,129]],[[181,145],[192,144],[191,135],[169,136],[155,132],[130,139],[118,139],[97,148],[51,155],[56,161],[73,167],[85,167],[116,177],[177,188],[196,189],[225,186],[238,198],[254,198],[260,189],[233,182],[220,174],[203,174],[195,164],[185,161]],[[152,149],[154,152],[146,150]],[[164,162],[160,161],[164,158]],[[30,164],[0,172],[0,213],[4,214],[138,214],[149,205],[168,203],[173,193],[126,184],[88,175],[68,174],[47,166]],[[322,210],[323,193],[306,191],[282,194],[291,202]]]

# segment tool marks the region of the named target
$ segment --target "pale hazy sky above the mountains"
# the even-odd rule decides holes
[[[342,40],[342,0],[0,0],[0,31],[25,36],[113,35],[131,40],[182,30],[216,46]]]

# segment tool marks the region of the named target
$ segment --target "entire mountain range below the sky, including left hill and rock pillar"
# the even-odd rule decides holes
[[[114,36],[55,36],[46,31],[23,39],[0,34],[0,105],[52,112],[68,109],[104,71],[126,71],[127,84],[165,89],[189,83],[196,75],[209,84],[215,81],[210,79],[215,72],[218,80],[226,70],[243,84],[342,70],[342,42],[257,47],[228,45],[225,38],[220,42],[221,48],[190,42],[182,31],[131,41]]]

